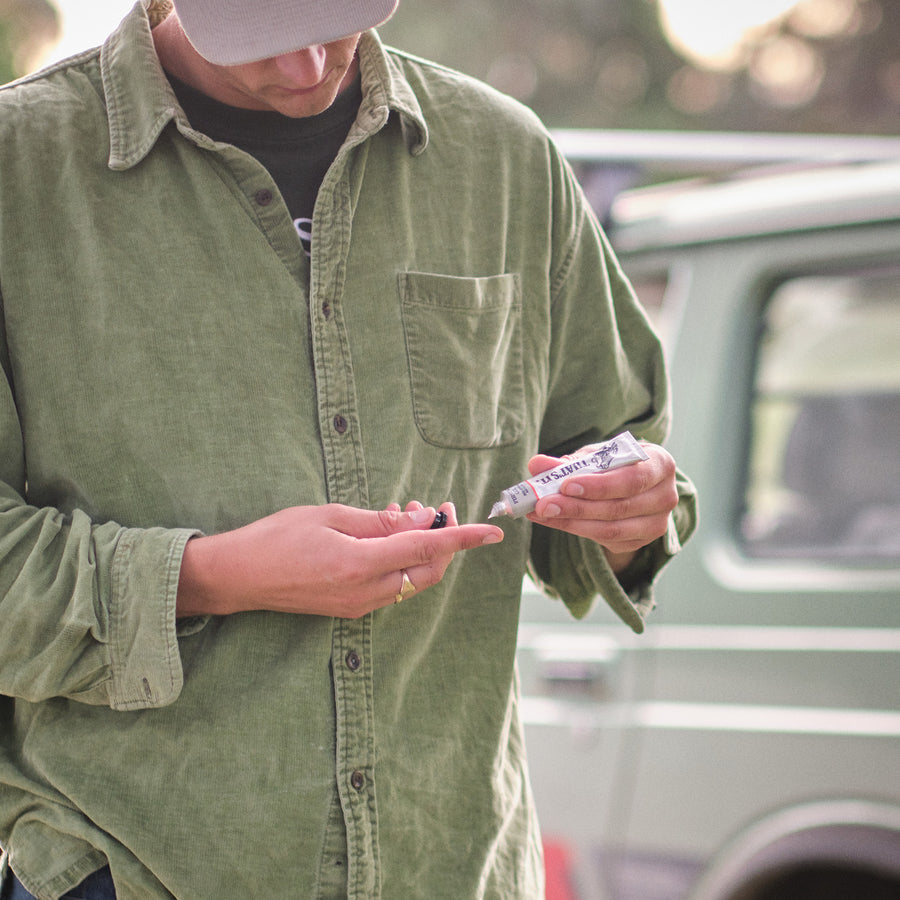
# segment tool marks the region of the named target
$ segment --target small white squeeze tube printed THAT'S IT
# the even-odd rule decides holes
[[[530,513],[541,497],[558,494],[560,483],[570,475],[605,472],[607,469],[630,466],[649,458],[630,431],[623,431],[600,444],[588,444],[555,468],[541,472],[540,475],[533,475],[501,491],[500,499],[491,507],[488,518],[506,515],[518,519]]]

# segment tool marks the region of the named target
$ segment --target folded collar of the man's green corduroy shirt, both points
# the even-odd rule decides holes
[[[428,143],[421,105],[396,60],[385,52],[374,31],[359,47],[363,103],[349,139],[357,142],[383,128],[391,112],[403,125],[409,152],[418,155]],[[153,148],[163,128],[175,121],[198,143],[162,70],[143,3],[136,3],[100,50],[100,71],[109,117],[109,167],[137,165]]]

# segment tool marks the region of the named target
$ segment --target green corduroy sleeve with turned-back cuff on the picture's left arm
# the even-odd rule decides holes
[[[118,710],[173,702],[183,682],[178,572],[197,532],[96,525],[4,493],[0,692]]]

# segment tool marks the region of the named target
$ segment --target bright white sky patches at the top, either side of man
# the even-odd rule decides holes
[[[52,0],[60,11],[62,39],[48,62],[93,47],[121,21],[134,0]],[[746,29],[781,15],[797,0],[663,0],[670,34],[694,58],[727,64]]]

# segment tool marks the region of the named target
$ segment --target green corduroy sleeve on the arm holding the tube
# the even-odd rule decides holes
[[[662,444],[670,424],[669,382],[659,337],[564,160],[557,156],[559,264],[553,280],[553,348],[541,452],[569,453],[630,430]],[[535,526],[529,573],[576,618],[597,597],[635,632],[654,607],[653,583],[697,523],[689,479],[677,476],[679,504],[665,535],[617,577],[601,546]]]

